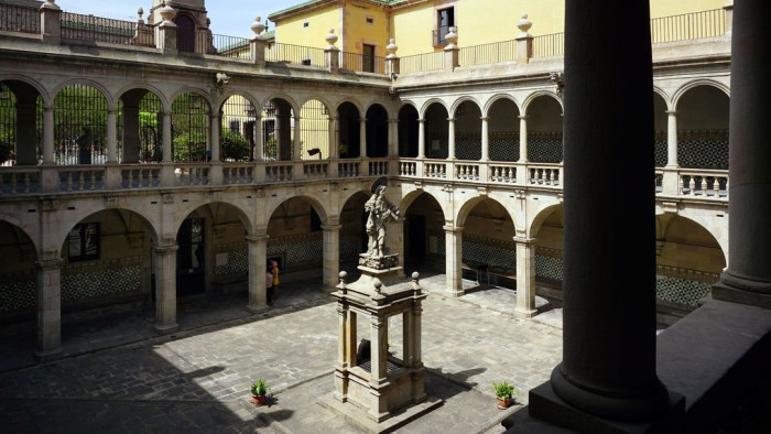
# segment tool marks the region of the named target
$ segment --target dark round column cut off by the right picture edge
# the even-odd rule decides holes
[[[713,297],[771,308],[771,8],[737,1],[731,39],[728,268]]]

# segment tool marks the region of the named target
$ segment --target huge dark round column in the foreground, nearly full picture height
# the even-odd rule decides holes
[[[586,25],[596,17],[606,18],[602,25]],[[648,2],[566,0],[565,77],[563,285],[569,290],[563,361],[549,388],[562,401],[547,402],[536,388],[530,414],[598,432],[608,420],[654,421],[669,404],[655,369]],[[623,107],[638,115],[623,115]],[[601,119],[602,128],[589,119]],[[640,257],[630,261],[630,251]],[[583,414],[565,417],[575,409]]]

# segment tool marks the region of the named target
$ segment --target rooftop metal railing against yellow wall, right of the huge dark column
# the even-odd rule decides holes
[[[651,20],[651,43],[695,40],[721,36],[726,33],[726,11],[684,13]]]

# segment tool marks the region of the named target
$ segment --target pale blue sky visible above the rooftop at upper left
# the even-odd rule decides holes
[[[208,0],[206,10],[211,19],[211,32],[229,36],[250,37],[253,33],[249,29],[254,22],[254,17],[261,15],[262,21],[270,13],[286,9],[306,0]],[[152,0],[58,0],[59,8],[67,12],[94,14],[97,17],[113,18],[117,20],[133,21],[137,19],[137,9],[142,7],[150,10]],[[274,29],[271,23],[269,29]]]

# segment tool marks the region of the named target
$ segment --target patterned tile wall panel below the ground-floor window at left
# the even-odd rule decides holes
[[[141,291],[141,257],[90,264],[67,264],[62,270],[62,303],[74,304],[93,299]]]

